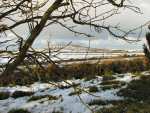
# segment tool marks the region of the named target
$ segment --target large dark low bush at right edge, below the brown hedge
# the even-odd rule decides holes
[[[121,89],[118,93],[120,96],[133,98],[136,100],[150,99],[150,76],[142,76],[139,80],[133,80],[127,88]]]

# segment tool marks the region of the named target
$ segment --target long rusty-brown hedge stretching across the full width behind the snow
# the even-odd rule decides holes
[[[150,68],[150,63],[145,58],[133,60],[108,60],[100,64],[76,63],[58,67],[54,64],[48,64],[44,70],[39,67],[32,67],[31,72],[15,72],[10,76],[0,77],[0,85],[26,85],[37,81],[49,82],[60,81],[65,79],[91,79],[96,75],[104,75],[104,80],[114,79],[112,74],[140,72]]]

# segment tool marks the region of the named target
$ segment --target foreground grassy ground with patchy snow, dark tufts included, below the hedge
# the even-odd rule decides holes
[[[7,98],[0,100],[0,112],[7,113],[11,109],[21,108],[31,113],[97,113],[104,108],[111,108],[121,101],[126,101],[126,97],[119,96],[118,92],[126,88],[131,81],[139,80],[141,76],[149,77],[149,72],[140,73],[139,76],[131,73],[112,76],[114,78],[110,80],[96,76],[91,80],[72,79],[62,82],[36,82],[26,86],[0,87],[0,95],[2,92],[9,93]],[[18,95],[14,96],[17,92]],[[26,94],[21,95],[23,92]],[[28,95],[29,92],[32,94]]]

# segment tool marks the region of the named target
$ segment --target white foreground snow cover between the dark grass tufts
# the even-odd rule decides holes
[[[144,72],[146,74],[146,72]],[[113,75],[116,77],[115,80],[122,81],[125,83],[129,83],[131,80],[136,79],[132,74],[116,74]],[[9,110],[13,108],[24,108],[28,109],[31,113],[52,113],[56,111],[61,111],[63,113],[91,113],[90,109],[87,105],[92,100],[100,99],[100,100],[121,100],[123,97],[117,96],[117,92],[121,87],[126,87],[126,85],[121,86],[116,89],[108,89],[103,90],[101,83],[103,82],[102,77],[97,76],[92,80],[84,80],[84,79],[73,79],[62,82],[50,82],[50,83],[40,83],[36,82],[30,86],[14,86],[14,87],[0,87],[0,92],[15,92],[15,91],[26,91],[26,92],[34,92],[33,96],[39,95],[52,95],[57,96],[56,100],[49,100],[47,97],[35,100],[28,101],[31,96],[25,96],[20,98],[12,98],[9,97],[5,100],[0,100],[0,113],[7,113]],[[78,84],[76,86],[76,90],[82,89],[82,92],[75,95],[70,95],[70,93],[74,92],[75,89],[73,87],[69,87],[70,85]],[[63,86],[64,88],[57,87]],[[97,92],[90,92],[89,87],[96,86],[98,88]],[[90,108],[94,108],[95,106],[89,106]],[[99,106],[103,107],[103,106]]]

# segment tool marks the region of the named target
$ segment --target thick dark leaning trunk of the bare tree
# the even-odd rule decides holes
[[[25,44],[23,45],[21,51],[19,52],[19,55],[16,57],[14,62],[9,64],[4,72],[2,73],[2,76],[10,75],[14,72],[17,66],[23,62],[26,53],[28,49],[32,46],[34,40],[37,38],[37,36],[40,34],[42,29],[44,28],[47,20],[49,19],[50,15],[59,8],[63,0],[55,0],[55,2],[47,9],[47,11],[44,13],[40,23],[36,25],[36,27],[31,31],[31,35],[28,37],[28,39],[25,41]]]

